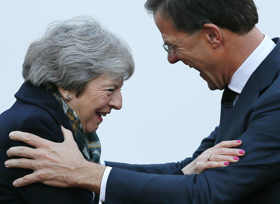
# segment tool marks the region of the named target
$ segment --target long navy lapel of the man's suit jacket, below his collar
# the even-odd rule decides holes
[[[276,47],[250,76],[226,121],[220,121],[216,144],[232,139],[232,133],[246,110],[258,99],[260,93],[272,84],[280,68],[280,41],[279,38],[274,38],[273,41]]]

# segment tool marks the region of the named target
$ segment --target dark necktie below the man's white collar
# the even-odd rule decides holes
[[[232,91],[228,87],[225,88],[221,100],[221,117],[220,117],[220,127],[223,127],[225,122],[230,115],[233,108],[233,102],[236,99],[237,92]]]

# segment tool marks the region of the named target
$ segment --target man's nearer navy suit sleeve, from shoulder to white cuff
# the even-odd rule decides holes
[[[254,108],[246,131],[238,138],[246,151],[239,162],[200,175],[154,175],[113,168],[105,203],[235,203],[273,185],[280,169],[279,98],[279,93],[272,94]],[[278,197],[274,195],[274,203]]]

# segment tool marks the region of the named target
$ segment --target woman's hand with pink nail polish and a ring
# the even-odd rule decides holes
[[[235,149],[242,144],[241,140],[223,141],[200,154],[194,161],[185,166],[184,174],[200,174],[208,168],[225,167],[239,161],[244,150]]]

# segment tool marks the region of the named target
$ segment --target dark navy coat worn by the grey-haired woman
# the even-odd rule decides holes
[[[0,115],[0,203],[93,203],[92,192],[81,188],[57,188],[42,183],[13,187],[15,179],[33,170],[4,166],[11,159],[6,154],[10,147],[27,146],[11,140],[11,131],[33,133],[54,142],[64,141],[61,125],[73,132],[57,99],[46,89],[23,84],[15,97],[15,104]]]

